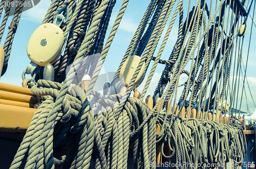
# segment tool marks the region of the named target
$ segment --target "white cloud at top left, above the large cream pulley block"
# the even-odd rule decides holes
[[[50,5],[51,5],[51,1],[40,1],[33,8],[23,12],[22,17],[32,22],[41,23]]]

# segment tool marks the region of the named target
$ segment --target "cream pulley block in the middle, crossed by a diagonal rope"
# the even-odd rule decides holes
[[[134,56],[130,56],[127,57],[127,59],[125,60],[125,62],[123,63],[121,69],[120,69],[120,81],[122,84],[128,86],[130,81],[132,80],[132,77],[135,73],[135,70],[140,62],[141,57],[134,55]],[[133,87],[137,88],[141,82],[143,81],[143,72],[145,70],[145,63],[143,63],[139,74],[137,75],[137,78],[134,82]]]

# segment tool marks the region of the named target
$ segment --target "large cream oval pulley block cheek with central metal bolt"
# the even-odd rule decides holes
[[[58,26],[53,23],[42,24],[29,39],[28,57],[40,66],[53,63],[63,50],[63,42],[64,34]]]

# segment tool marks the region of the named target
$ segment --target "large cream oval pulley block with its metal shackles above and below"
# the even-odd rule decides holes
[[[66,17],[61,14],[65,10]],[[23,80],[25,79],[25,74],[30,74],[32,76],[31,80],[35,81],[35,74],[38,73],[35,70],[38,70],[39,66],[54,63],[61,55],[65,46],[65,38],[60,26],[62,23],[67,22],[68,18],[69,7],[65,5],[56,13],[53,23],[44,23],[33,32],[27,45],[27,55],[31,62],[27,69],[24,70]],[[45,68],[49,69],[51,67],[47,66]],[[52,70],[45,71],[44,77],[47,72],[50,72],[51,75],[49,76],[53,76],[48,76],[47,79],[54,79]]]

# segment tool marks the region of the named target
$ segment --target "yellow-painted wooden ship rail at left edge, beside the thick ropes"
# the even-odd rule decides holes
[[[38,102],[29,88],[0,83],[0,132],[26,132]]]

